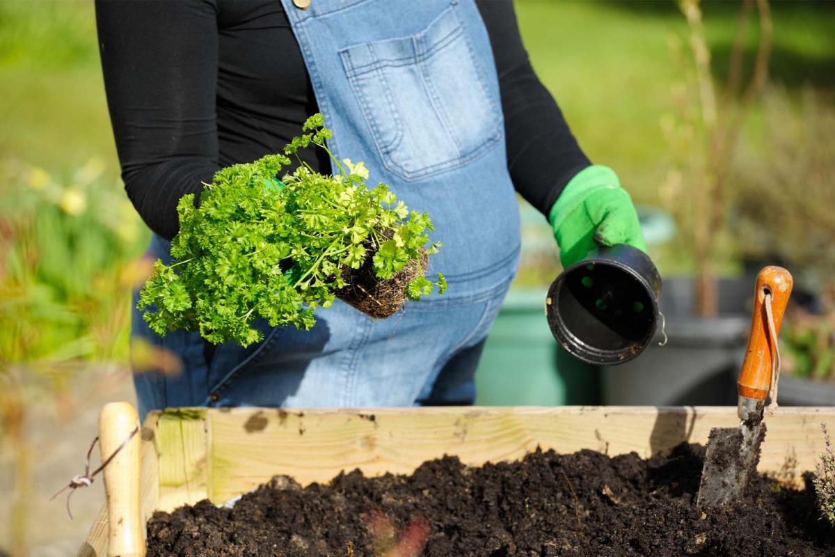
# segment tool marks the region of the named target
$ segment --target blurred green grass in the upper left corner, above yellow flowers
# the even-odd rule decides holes
[[[92,2],[0,2],[0,99],[0,157],[117,175]]]

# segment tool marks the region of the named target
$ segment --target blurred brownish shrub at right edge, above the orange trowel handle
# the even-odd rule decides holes
[[[762,119],[733,169],[742,254],[777,255],[827,286],[835,272],[835,105],[812,89],[792,101],[772,88]]]

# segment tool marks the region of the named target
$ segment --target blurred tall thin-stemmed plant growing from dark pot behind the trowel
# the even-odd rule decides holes
[[[758,33],[756,54],[748,69],[744,53],[754,6]],[[671,35],[668,48],[672,62],[683,75],[671,87],[676,110],[661,119],[672,165],[660,195],[676,215],[693,259],[696,311],[701,317],[716,317],[719,295],[715,262],[727,259],[721,251],[729,247],[728,174],[746,116],[767,84],[772,15],[767,0],[742,1],[726,77],[717,78],[716,68],[711,66],[700,0],[680,0],[679,7],[687,22],[687,48],[679,36]]]

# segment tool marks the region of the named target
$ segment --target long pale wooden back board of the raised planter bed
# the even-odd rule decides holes
[[[301,484],[342,470],[411,473],[444,453],[479,465],[521,458],[538,445],[572,453],[591,448],[641,457],[682,441],[706,443],[714,427],[738,424],[729,407],[210,409],[210,486],[215,503],[276,473]],[[820,423],[835,428],[835,408],[780,408],[767,418],[760,470],[798,482],[822,450]]]

